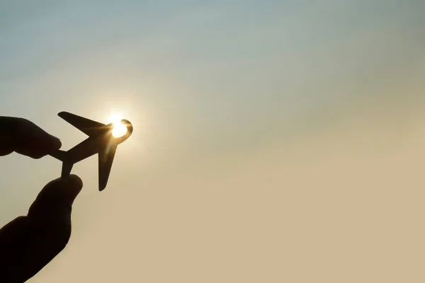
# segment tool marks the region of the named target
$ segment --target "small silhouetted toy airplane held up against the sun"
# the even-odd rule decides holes
[[[121,120],[121,123],[127,127],[127,132],[123,137],[113,137],[113,123],[105,125],[69,112],[60,112],[58,115],[89,136],[86,140],[77,144],[77,146],[69,149],[69,151],[57,150],[50,154],[50,156],[62,161],[62,178],[71,173],[72,166],[75,163],[94,154],[98,154],[99,191],[102,191],[108,183],[113,157],[115,156],[118,144],[128,139],[132,134],[131,123],[128,120]]]

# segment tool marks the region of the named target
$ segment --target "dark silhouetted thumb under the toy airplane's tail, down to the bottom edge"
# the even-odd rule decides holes
[[[0,282],[25,282],[61,250],[71,236],[71,209],[83,183],[76,175],[45,185],[21,216],[0,229]]]

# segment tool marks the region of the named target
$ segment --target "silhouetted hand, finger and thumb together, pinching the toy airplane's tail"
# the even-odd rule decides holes
[[[42,158],[60,149],[59,139],[33,122],[0,117],[0,156],[18,154]],[[0,229],[0,282],[26,282],[67,245],[71,236],[72,203],[83,183],[76,175],[45,185],[27,216]]]

